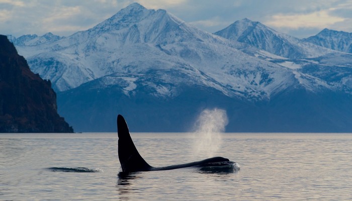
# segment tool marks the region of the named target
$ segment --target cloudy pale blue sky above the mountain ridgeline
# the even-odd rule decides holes
[[[164,9],[210,33],[243,18],[297,38],[324,28],[352,32],[352,0],[0,0],[0,34],[69,36],[134,2]]]

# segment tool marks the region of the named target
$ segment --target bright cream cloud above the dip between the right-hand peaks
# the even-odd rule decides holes
[[[332,9],[331,9],[332,10]],[[330,10],[330,11],[331,11]],[[268,26],[280,28],[326,28],[338,22],[344,21],[345,18],[331,16],[329,10],[322,10],[310,14],[284,15],[278,14],[272,16],[272,19],[265,22]]]

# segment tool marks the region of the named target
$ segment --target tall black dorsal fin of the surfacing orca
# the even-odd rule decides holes
[[[148,171],[152,167],[145,162],[134,145],[127,123],[122,115],[117,116],[117,133],[119,137],[118,152],[123,172]]]

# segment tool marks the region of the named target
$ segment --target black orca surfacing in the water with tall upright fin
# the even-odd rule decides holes
[[[236,162],[232,162],[227,158],[213,157],[201,161],[191,163],[184,163],[178,165],[170,165],[165,167],[153,167],[149,165],[142,156],[138,153],[134,145],[127,123],[122,115],[117,116],[117,133],[118,133],[118,153],[119,160],[123,173],[139,172],[139,171],[158,171],[158,170],[172,170],[185,167],[201,167],[204,170],[219,170],[225,168],[232,170],[232,172],[239,170]]]

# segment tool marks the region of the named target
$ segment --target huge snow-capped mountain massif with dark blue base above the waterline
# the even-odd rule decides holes
[[[227,39],[134,3],[92,29],[16,47],[76,131],[115,131],[118,113],[134,131],[189,131],[205,108],[225,109],[230,132],[352,131],[352,54],[242,21]]]

